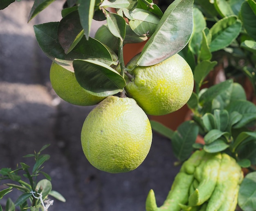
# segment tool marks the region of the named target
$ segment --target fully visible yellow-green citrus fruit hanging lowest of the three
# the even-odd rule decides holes
[[[145,112],[131,98],[109,96],[86,117],[81,144],[88,161],[101,171],[121,173],[137,168],[152,143]]]

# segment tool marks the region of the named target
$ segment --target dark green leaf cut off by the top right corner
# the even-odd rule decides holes
[[[252,1],[250,3],[256,4]],[[245,31],[249,36],[256,40],[256,13],[254,13],[247,1],[242,4],[240,16],[243,21]]]

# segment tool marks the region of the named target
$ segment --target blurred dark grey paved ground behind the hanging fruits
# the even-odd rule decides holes
[[[49,211],[144,211],[150,189],[161,205],[179,170],[173,166],[170,141],[154,132],[148,157],[130,173],[110,174],[91,166],[81,149],[80,131],[93,107],[74,106],[56,96],[49,83],[51,61],[33,31],[33,25],[61,20],[63,0],[27,23],[32,4],[15,2],[0,11],[0,168],[32,165],[22,156],[51,144],[44,151],[51,155],[44,171],[67,201],[54,200]],[[18,194],[7,197],[15,200]]]

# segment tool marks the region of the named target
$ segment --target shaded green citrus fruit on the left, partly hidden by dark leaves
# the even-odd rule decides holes
[[[86,92],[76,81],[74,72],[66,70],[55,62],[50,68],[50,81],[59,97],[77,106],[92,106],[105,99]]]

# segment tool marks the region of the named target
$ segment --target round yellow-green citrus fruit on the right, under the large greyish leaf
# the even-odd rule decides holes
[[[139,55],[132,58],[127,68],[132,68]],[[164,115],[180,109],[193,92],[193,73],[188,63],[175,54],[156,65],[138,66],[131,72],[134,80],[128,81],[128,97],[150,115]]]

